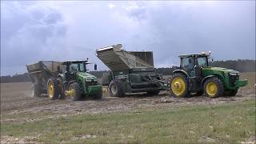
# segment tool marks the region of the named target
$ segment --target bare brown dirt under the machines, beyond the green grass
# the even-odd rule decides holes
[[[101,100],[73,102],[70,99],[32,98],[31,82],[4,83],[1,84],[1,125],[78,114],[106,114],[125,112],[126,110],[161,109],[166,107],[175,109],[188,105],[215,105],[226,102],[243,102],[248,99],[255,100],[254,74],[242,75],[242,78],[250,79],[250,85],[241,88],[235,97],[220,98],[207,98],[206,96],[170,98],[166,91],[162,91],[153,97],[147,97],[145,94],[130,94],[125,98],[112,98],[107,93],[104,93]],[[3,139],[2,142],[5,141],[5,138]]]

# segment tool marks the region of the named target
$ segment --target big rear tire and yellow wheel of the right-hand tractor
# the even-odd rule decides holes
[[[178,86],[174,86],[175,81],[177,81],[177,78],[182,79],[182,91],[180,94],[178,94]],[[173,86],[172,86],[173,83]],[[179,82],[181,83],[181,82]],[[176,88],[177,87],[177,88]],[[181,89],[181,88],[180,88]],[[189,82],[185,74],[181,73],[175,73],[174,75],[171,76],[170,82],[169,82],[169,92],[172,96],[177,97],[177,98],[182,98],[182,97],[188,97],[189,96]]]

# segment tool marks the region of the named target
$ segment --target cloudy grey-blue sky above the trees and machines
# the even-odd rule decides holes
[[[255,59],[255,1],[1,1],[1,75],[40,60],[89,58],[106,70],[95,50],[116,43],[154,51],[156,67],[209,50],[215,60]]]

